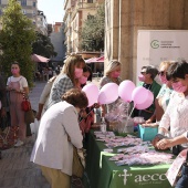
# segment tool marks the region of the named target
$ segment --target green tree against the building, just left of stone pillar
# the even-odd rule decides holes
[[[97,7],[95,15],[88,15],[81,32],[81,45],[86,51],[104,51],[104,4]]]

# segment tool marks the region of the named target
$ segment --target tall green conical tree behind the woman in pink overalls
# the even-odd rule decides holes
[[[34,63],[31,61],[32,43],[35,31],[32,21],[22,13],[22,8],[17,0],[9,0],[3,9],[0,31],[0,62],[6,76],[11,74],[11,63],[17,61],[21,67],[21,74],[32,85]]]

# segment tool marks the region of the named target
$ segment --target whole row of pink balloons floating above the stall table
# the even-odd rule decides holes
[[[134,102],[134,107],[145,109],[154,102],[154,94],[143,86],[136,87],[132,81],[123,81],[119,86],[115,83],[107,83],[101,90],[90,83],[82,91],[85,92],[88,98],[88,106],[94,103],[111,104],[121,97],[124,102]]]

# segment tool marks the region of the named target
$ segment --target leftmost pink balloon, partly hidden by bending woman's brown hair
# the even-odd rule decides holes
[[[85,92],[85,94],[87,96],[88,106],[92,106],[94,103],[97,103],[100,90],[95,84],[90,83],[90,84],[85,85],[82,88],[82,91]]]

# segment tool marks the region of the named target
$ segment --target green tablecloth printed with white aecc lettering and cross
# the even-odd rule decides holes
[[[116,166],[104,153],[104,143],[95,140],[93,130],[86,140],[86,174],[91,188],[170,188],[166,179],[169,165]],[[115,150],[116,153],[116,150]],[[109,156],[111,155],[111,156]]]

